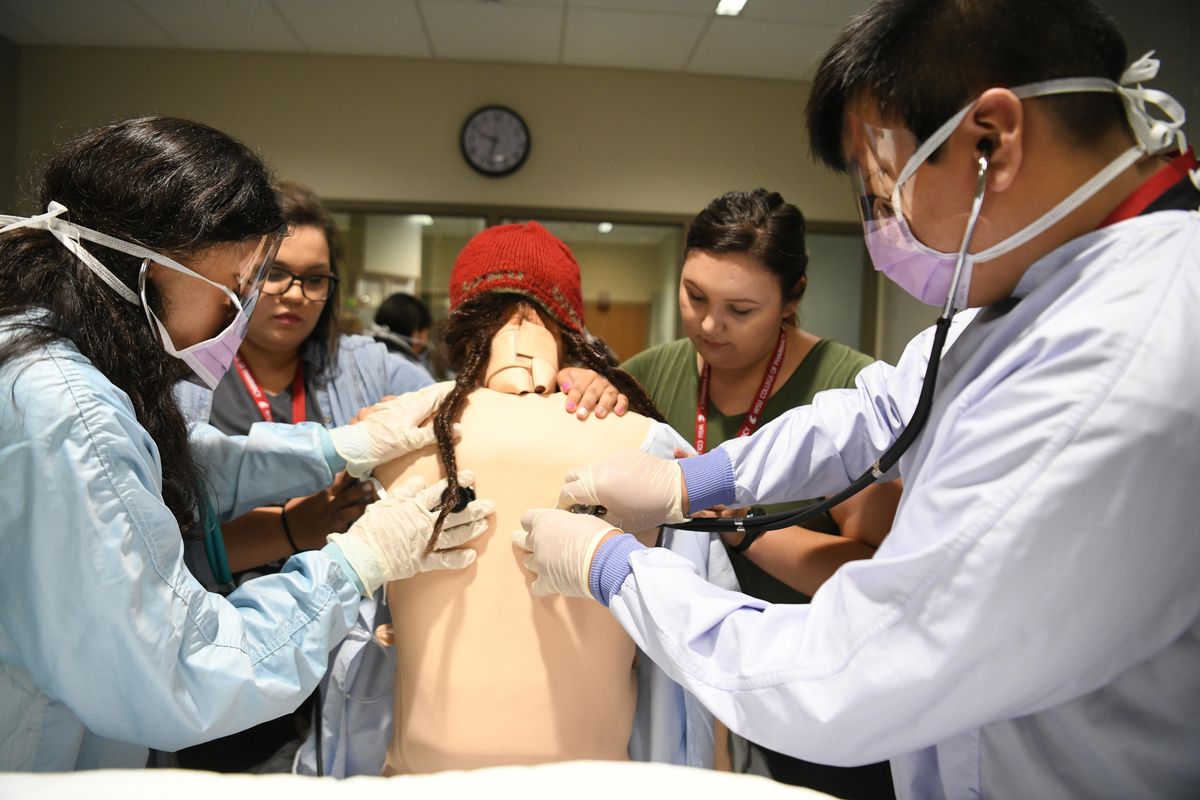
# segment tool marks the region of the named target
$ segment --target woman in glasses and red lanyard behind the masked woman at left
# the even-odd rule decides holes
[[[335,427],[349,425],[360,409],[385,397],[432,384],[420,366],[389,354],[370,337],[337,332],[342,248],[334,221],[307,186],[281,182],[275,196],[287,235],[263,282],[246,341],[214,391],[192,383],[176,387],[187,419],[229,435],[246,434],[262,421],[310,420]],[[208,554],[222,552],[210,545],[192,551],[190,566],[200,576],[211,571],[210,588],[228,591],[234,583],[277,572],[293,553],[319,549],[374,499],[370,481],[338,473],[320,492],[224,523],[227,564],[208,564]],[[311,702],[305,702],[277,720],[181,751],[176,763],[218,771],[289,770],[288,751],[306,734],[311,712]],[[281,748],[277,762],[264,764]]]

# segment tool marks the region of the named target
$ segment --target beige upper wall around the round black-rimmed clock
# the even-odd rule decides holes
[[[132,114],[215,125],[335,199],[694,215],[758,185],[811,219],[851,219],[842,179],[803,144],[806,84],[383,58],[24,48],[24,169],[76,131]],[[532,130],[515,175],[474,173],[467,115],[504,103]]]

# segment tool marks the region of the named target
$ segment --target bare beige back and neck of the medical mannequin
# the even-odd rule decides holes
[[[559,349],[547,323],[557,327],[520,303],[460,420],[457,458],[497,504],[479,558],[455,576],[389,587],[397,662],[388,774],[626,758],[632,640],[596,603],[530,595],[510,534],[526,509],[553,503],[569,469],[642,446],[652,421],[563,414],[564,396],[547,393]],[[391,486],[445,473],[427,447],[376,474]]]

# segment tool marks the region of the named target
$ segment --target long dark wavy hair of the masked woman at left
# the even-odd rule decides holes
[[[211,245],[283,224],[266,168],[250,150],[205,125],[168,118],[115,122],[64,145],[42,179],[40,203],[50,200],[68,209],[71,222],[184,264]],[[140,258],[83,243],[137,291]],[[146,299],[161,317],[151,284]],[[122,300],[48,231],[22,228],[0,235],[0,317],[14,333],[0,347],[0,365],[65,339],[128,396],[158,446],[167,507],[185,536],[202,531],[203,473],[172,392],[187,367],[163,351],[142,307]]]

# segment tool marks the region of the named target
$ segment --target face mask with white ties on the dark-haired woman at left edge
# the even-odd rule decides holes
[[[134,245],[122,239],[115,239],[97,230],[73,224],[66,219],[60,219],[59,217],[66,213],[66,206],[61,203],[52,200],[47,206],[46,213],[42,215],[34,217],[0,216],[0,222],[7,223],[4,228],[0,228],[0,234],[17,228],[38,228],[41,230],[50,231],[50,234],[58,239],[64,247],[74,253],[79,260],[82,260],[116,294],[121,295],[124,300],[133,303],[134,306],[142,306],[146,313],[146,321],[150,324],[150,329],[156,333],[163,350],[166,350],[167,354],[184,361],[184,363],[192,369],[192,373],[197,378],[198,383],[202,383],[209,389],[216,389],[216,385],[221,381],[221,377],[229,369],[229,365],[233,363],[233,357],[236,355],[238,348],[241,347],[242,339],[246,338],[246,330],[250,325],[250,315],[253,313],[254,305],[258,301],[258,293],[262,289],[263,279],[266,277],[266,271],[270,267],[271,261],[275,260],[275,252],[278,249],[281,236],[278,234],[270,234],[259,240],[258,247],[240,270],[240,285],[242,285],[244,289],[241,297],[239,297],[227,287],[221,285],[215,281],[210,281],[203,275],[187,269],[179,261],[167,255],[156,253],[152,249],[142,247],[140,245]],[[127,285],[121,283],[121,281],[113,275],[107,266],[101,264],[96,257],[84,249],[83,245],[79,243],[80,239],[86,239],[88,241],[103,245],[104,247],[121,253],[140,257],[143,261],[142,272],[138,276],[138,294],[134,294]],[[236,309],[234,319],[216,336],[182,349],[176,348],[174,342],[172,342],[170,335],[167,332],[167,327],[162,324],[158,317],[150,311],[150,305],[146,302],[146,275],[151,263],[160,264],[169,270],[175,270],[176,272],[182,272],[184,275],[191,276],[198,281],[204,281],[205,283],[223,291]]]

